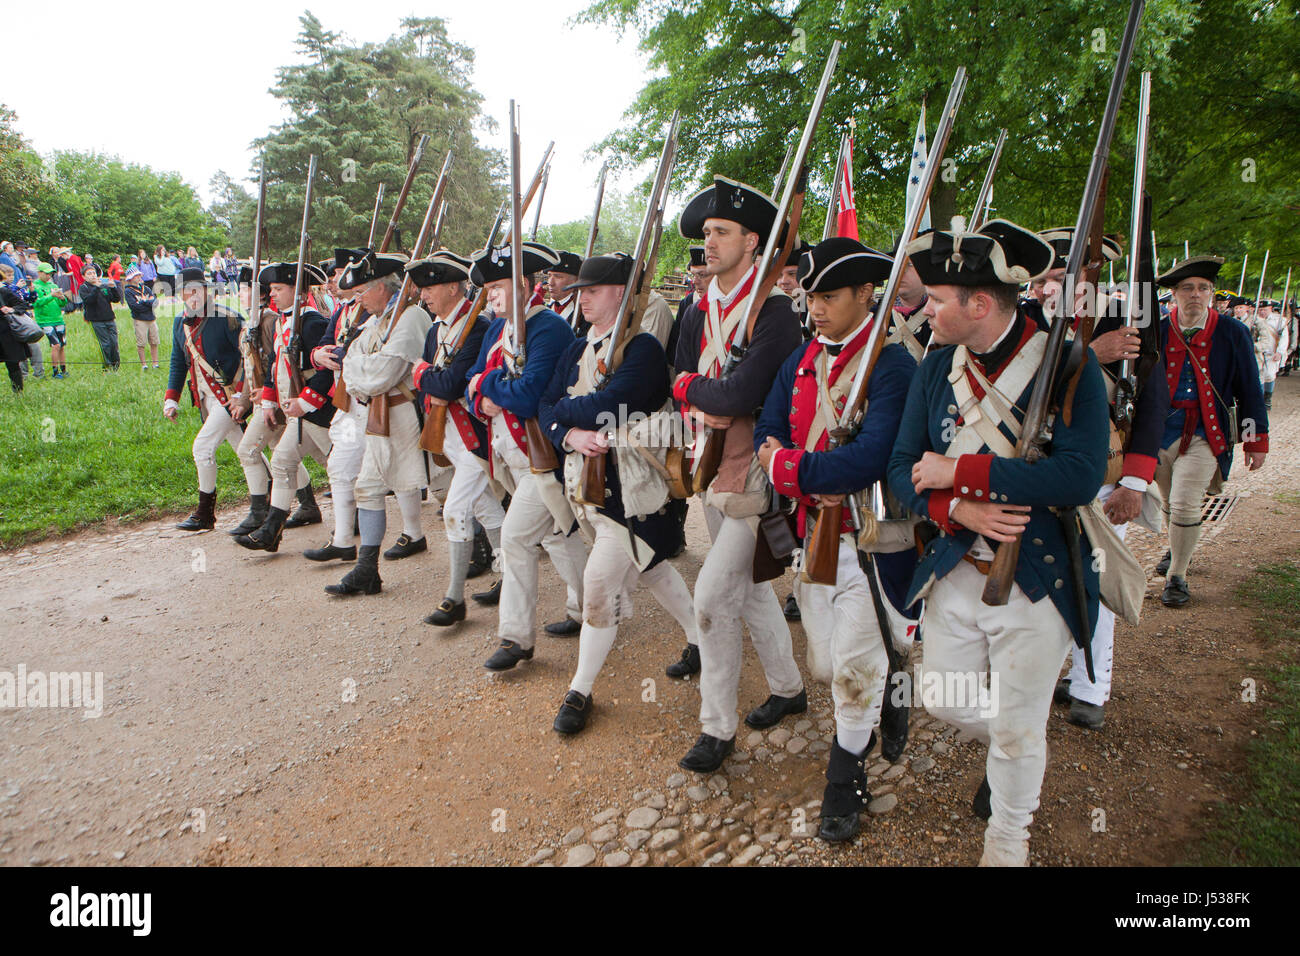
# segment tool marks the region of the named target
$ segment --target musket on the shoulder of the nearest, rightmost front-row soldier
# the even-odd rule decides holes
[[[1128,77],[1128,65],[1132,61],[1134,42],[1138,35],[1138,26],[1141,22],[1145,0],[1132,0],[1128,10],[1128,22],[1124,25],[1124,35],[1119,43],[1119,56],[1115,64],[1114,75],[1110,79],[1110,92],[1106,99],[1106,109],[1101,117],[1101,126],[1097,130],[1097,143],[1092,152],[1092,163],[1088,169],[1088,179],[1079,200],[1079,215],[1075,219],[1074,237],[1070,242],[1070,255],[1065,265],[1065,286],[1062,289],[1062,303],[1069,303],[1074,308],[1076,299],[1076,285],[1079,272],[1084,265],[1084,254],[1089,245],[1089,225],[1097,215],[1097,198],[1101,194],[1102,181],[1106,177],[1106,157],[1110,152],[1110,143],[1115,131],[1115,117],[1119,113],[1119,101],[1123,95],[1124,81]],[[1096,250],[1100,256],[1100,250]],[[1037,462],[1044,457],[1044,446],[1052,438],[1053,405],[1061,385],[1060,377],[1063,371],[1065,339],[1070,330],[1070,320],[1066,310],[1061,310],[1061,317],[1052,324],[1044,350],[1043,364],[1034,380],[1034,390],[1030,395],[1030,405],[1024,414],[1020,438],[1015,445],[1015,457],[1026,462]],[[1082,329],[1080,329],[1082,332]],[[1087,346],[1087,342],[1084,342]],[[1062,416],[1069,411],[1069,406],[1062,408]],[[1065,509],[1060,512],[1062,524],[1069,525],[1078,522],[1076,509]],[[1006,604],[1011,593],[1011,584],[1015,579],[1015,566],[1020,557],[1020,536],[1017,535],[1010,541],[998,545],[989,568],[988,580],[984,587],[983,601],[987,605],[1000,607]],[[1078,594],[1083,581],[1083,568],[1079,564],[1079,554],[1071,551],[1070,564],[1075,593]],[[1092,628],[1087,623],[1087,601],[1079,604],[1079,613],[1084,618],[1080,633],[1089,635]],[[1089,641],[1083,643],[1084,659],[1088,665],[1088,678],[1093,678],[1092,646]]]

